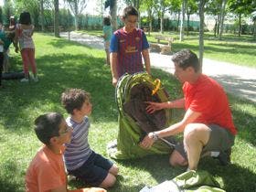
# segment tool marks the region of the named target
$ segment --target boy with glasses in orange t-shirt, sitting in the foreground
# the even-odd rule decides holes
[[[68,190],[63,152],[69,143],[72,128],[57,112],[37,117],[35,132],[43,145],[31,161],[26,174],[27,192],[106,192],[103,188]]]

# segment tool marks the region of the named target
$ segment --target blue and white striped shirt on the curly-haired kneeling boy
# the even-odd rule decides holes
[[[81,123],[68,117],[66,122],[73,128],[73,132],[70,143],[65,144],[64,160],[68,170],[75,170],[88,160],[92,152],[88,143],[90,122],[88,117],[84,117]]]

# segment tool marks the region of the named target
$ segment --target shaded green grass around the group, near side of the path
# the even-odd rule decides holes
[[[38,83],[22,84],[4,81],[0,91],[0,191],[24,191],[27,166],[41,145],[33,132],[33,121],[45,112],[67,113],[59,97],[67,88],[81,88],[92,95],[91,148],[106,155],[106,144],[118,132],[117,108],[114,101],[111,71],[103,66],[104,50],[96,50],[62,38],[35,34]],[[11,50],[13,53],[13,49]],[[22,69],[18,54],[12,54],[12,69]],[[181,95],[180,84],[160,69],[153,69],[172,99]],[[205,158],[199,169],[208,170],[227,191],[256,190],[256,105],[229,96],[234,121],[239,129],[232,153],[232,165],[220,166]],[[174,111],[174,120],[183,112]],[[154,186],[185,171],[168,165],[168,155],[151,155],[141,159],[117,161],[120,175],[109,191],[139,191],[144,185]],[[80,187],[82,183],[70,183]]]

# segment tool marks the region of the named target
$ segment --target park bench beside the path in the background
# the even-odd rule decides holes
[[[150,50],[155,52],[160,52],[161,54],[171,54],[172,52],[172,42],[174,41],[173,37],[165,37],[161,35],[155,36],[155,39],[157,40],[157,43],[151,43],[150,44]],[[168,42],[168,45],[160,44],[161,40],[165,40]]]

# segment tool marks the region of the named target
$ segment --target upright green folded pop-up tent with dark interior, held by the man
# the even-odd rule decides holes
[[[139,146],[146,133],[169,126],[171,111],[145,112],[144,101],[168,101],[165,88],[155,90],[155,80],[147,73],[124,74],[117,83],[115,98],[119,111],[117,144],[110,144],[108,154],[115,159],[129,159],[153,154],[170,154],[173,148],[158,140],[150,149]],[[174,138],[169,138],[172,143]]]

